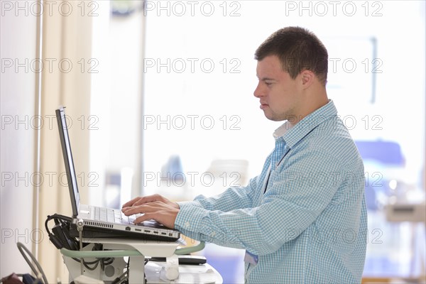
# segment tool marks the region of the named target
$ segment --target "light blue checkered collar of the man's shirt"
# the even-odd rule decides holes
[[[275,129],[273,137],[276,139],[283,138],[290,148],[292,148],[297,142],[302,140],[303,137],[310,133],[320,124],[326,123],[328,119],[332,119],[337,115],[337,109],[334,106],[334,102],[329,99],[329,102],[320,109],[313,111],[297,122],[295,126],[292,126],[285,121],[278,129]]]

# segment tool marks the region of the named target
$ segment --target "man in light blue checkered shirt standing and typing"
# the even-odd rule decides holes
[[[275,149],[246,187],[170,202],[124,204],[192,239],[246,250],[246,283],[360,283],[366,253],[364,165],[327,98],[327,50],[310,31],[288,27],[256,50],[266,118],[285,121]]]

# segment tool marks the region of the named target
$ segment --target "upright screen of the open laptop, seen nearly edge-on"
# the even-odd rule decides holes
[[[62,154],[64,156],[65,170],[67,172],[68,188],[70,190],[72,217],[77,217],[80,208],[80,194],[77,187],[77,178],[75,177],[74,163],[72,161],[70,136],[68,136],[67,119],[65,117],[64,107],[56,110],[56,119],[58,120],[58,129]]]

